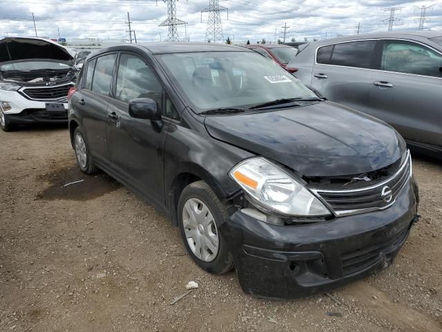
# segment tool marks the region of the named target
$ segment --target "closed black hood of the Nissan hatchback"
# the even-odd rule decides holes
[[[340,104],[208,116],[218,140],[276,160],[301,176],[348,176],[381,169],[401,158],[405,142],[390,125]]]

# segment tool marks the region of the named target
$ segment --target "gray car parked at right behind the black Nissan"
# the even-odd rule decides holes
[[[442,31],[326,39],[301,46],[287,67],[325,98],[390,123],[410,147],[442,157]]]

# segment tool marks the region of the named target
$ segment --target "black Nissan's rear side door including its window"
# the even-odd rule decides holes
[[[84,86],[73,101],[82,119],[90,154],[102,163],[108,159],[106,118],[116,58],[116,53],[106,53],[89,60]]]

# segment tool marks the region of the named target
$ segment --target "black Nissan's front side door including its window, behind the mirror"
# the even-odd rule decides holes
[[[143,196],[163,205],[166,134],[151,120],[129,116],[128,103],[135,98],[151,98],[161,108],[163,87],[143,57],[122,53],[115,82],[115,99],[108,104],[106,122],[111,167]]]

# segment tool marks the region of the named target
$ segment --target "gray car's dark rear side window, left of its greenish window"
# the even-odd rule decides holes
[[[372,63],[374,47],[376,46],[376,40],[367,40],[363,42],[348,42],[341,44],[334,44],[332,51],[332,56],[329,57],[327,61],[327,55],[330,50],[318,50],[318,55],[321,58],[317,58],[318,63],[323,64],[334,64],[336,66],[347,66],[356,68],[370,68]],[[325,46],[329,47],[329,46]],[[325,62],[320,62],[320,60]]]

